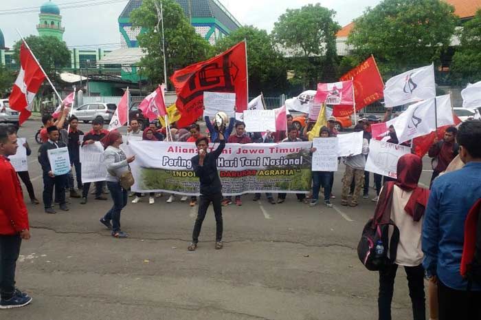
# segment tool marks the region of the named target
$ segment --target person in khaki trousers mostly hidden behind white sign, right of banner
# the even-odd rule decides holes
[[[354,127],[355,132],[363,131],[363,125],[357,124]],[[369,143],[367,139],[363,138],[362,152],[358,155],[351,155],[346,158],[344,163],[346,164],[346,172],[344,173],[342,184],[341,204],[343,206],[348,205],[348,193],[350,184],[355,181],[355,189],[353,198],[349,203],[349,206],[357,206],[359,204],[359,196],[361,195],[361,189],[364,183],[364,167],[366,167],[366,154],[369,153]]]

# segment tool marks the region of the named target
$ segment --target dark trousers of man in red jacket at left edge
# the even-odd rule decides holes
[[[20,235],[0,235],[0,296],[10,299],[15,292],[16,259],[19,259]]]

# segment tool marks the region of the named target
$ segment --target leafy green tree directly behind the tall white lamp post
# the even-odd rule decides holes
[[[162,53],[161,25],[157,28],[158,17],[155,1],[144,0],[142,6],[133,10],[131,21],[134,28],[142,28],[137,36],[139,47],[147,53],[139,63],[142,76],[150,83],[164,82],[164,54]],[[159,2],[157,1],[159,6]],[[166,47],[167,76],[175,70],[212,56],[212,46],[195,33],[181,6],[173,0],[163,0],[164,35]]]

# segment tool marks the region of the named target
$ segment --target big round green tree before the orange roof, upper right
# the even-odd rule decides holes
[[[354,54],[370,54],[383,74],[437,62],[451,42],[458,19],[442,0],[384,0],[355,20],[348,36]]]

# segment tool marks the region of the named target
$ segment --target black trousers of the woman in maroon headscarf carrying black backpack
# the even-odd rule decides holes
[[[388,268],[379,270],[379,297],[377,299],[379,320],[391,320],[391,301],[397,267],[397,264],[393,264]],[[412,302],[413,319],[425,320],[426,306],[423,266],[421,264],[414,267],[405,266],[404,270],[407,275],[407,286],[409,287],[409,295]]]

